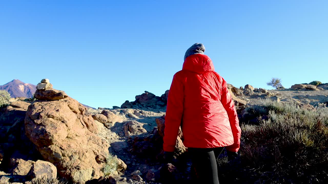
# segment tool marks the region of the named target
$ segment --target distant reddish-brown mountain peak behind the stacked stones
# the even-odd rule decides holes
[[[16,97],[31,98],[36,91],[36,85],[23,83],[22,81],[15,79],[7,84],[0,85],[0,90],[8,91],[11,98],[16,98]]]

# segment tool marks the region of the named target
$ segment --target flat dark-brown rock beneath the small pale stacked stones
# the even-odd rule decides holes
[[[60,100],[67,97],[64,91],[56,89],[38,89],[34,93],[34,98],[38,100]]]

